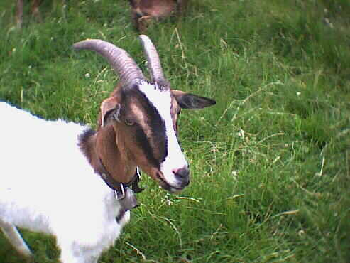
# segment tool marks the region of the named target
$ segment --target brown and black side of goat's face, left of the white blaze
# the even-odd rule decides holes
[[[118,120],[111,122],[120,151],[156,178],[155,170],[160,169],[167,149],[165,126],[162,126],[161,117],[138,88],[124,92],[114,91],[112,94],[122,100]]]

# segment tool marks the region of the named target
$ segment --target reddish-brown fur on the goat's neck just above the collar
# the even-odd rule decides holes
[[[128,158],[126,151],[119,149],[116,134],[111,125],[100,128],[91,143],[93,151],[90,160],[98,173],[104,173],[106,169],[119,183],[128,183],[132,180],[136,173],[136,163]]]

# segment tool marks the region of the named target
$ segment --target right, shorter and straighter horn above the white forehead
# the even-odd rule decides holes
[[[148,61],[148,69],[151,73],[151,79],[153,82],[168,82],[165,80],[163,75],[162,66],[160,65],[160,60],[158,56],[158,52],[155,49],[152,41],[148,36],[140,35],[141,43],[143,45],[143,50],[145,51],[147,61]]]

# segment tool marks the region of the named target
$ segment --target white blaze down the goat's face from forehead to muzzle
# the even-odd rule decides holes
[[[148,84],[147,82],[141,82],[138,87],[141,92],[146,95],[148,100],[152,102],[154,107],[158,109],[160,117],[162,117],[165,122],[165,132],[168,140],[168,156],[166,156],[165,161],[160,164],[160,171],[162,171],[165,181],[167,181],[170,186],[179,188],[181,182],[176,178],[173,170],[187,168],[188,163],[177,141],[170,115],[170,90],[160,90],[157,86]]]

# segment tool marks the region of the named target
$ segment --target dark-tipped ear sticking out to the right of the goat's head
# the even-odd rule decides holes
[[[202,109],[214,105],[215,100],[208,97],[202,97],[181,90],[171,90],[177,103],[182,109]]]

